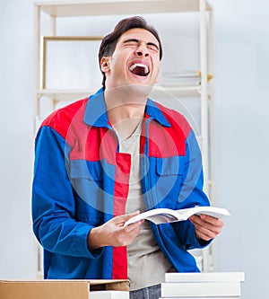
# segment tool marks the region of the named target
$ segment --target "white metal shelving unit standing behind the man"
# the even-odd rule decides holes
[[[42,15],[50,17],[50,39],[60,38],[56,32],[56,18],[106,15],[138,15],[146,13],[199,13],[199,51],[201,84],[197,86],[157,86],[152,91],[152,99],[160,99],[163,92],[178,98],[200,98],[201,124],[200,141],[203,153],[204,191],[215,201],[214,184],[214,87],[213,81],[208,84],[207,74],[214,74],[213,69],[213,7],[206,0],[84,0],[84,1],[36,1],[35,9],[35,66],[36,66],[36,98],[34,110],[36,126],[40,121],[40,98],[46,96],[51,110],[56,103],[63,100],[79,99],[95,92],[95,90],[51,90],[46,88],[44,77],[44,47],[40,32]],[[43,13],[43,14],[42,14]],[[87,37],[70,37],[76,40]],[[66,39],[66,37],[65,37]],[[213,247],[203,251],[203,271],[213,270],[215,258]]]

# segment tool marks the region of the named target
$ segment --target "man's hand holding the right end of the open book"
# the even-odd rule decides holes
[[[210,241],[221,233],[223,226],[221,219],[210,215],[192,215],[189,220],[195,225],[195,234],[199,242]]]

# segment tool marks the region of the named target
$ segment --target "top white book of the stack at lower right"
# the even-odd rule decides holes
[[[244,280],[244,272],[165,273],[165,282],[167,283],[242,282]]]

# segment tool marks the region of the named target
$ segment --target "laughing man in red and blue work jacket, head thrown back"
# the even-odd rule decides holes
[[[199,271],[187,250],[221,232],[205,215],[124,226],[147,209],[209,205],[193,130],[148,99],[161,56],[142,18],[119,22],[100,45],[103,88],[39,128],[32,215],[45,278],[128,277],[131,298],[159,298],[164,273]]]

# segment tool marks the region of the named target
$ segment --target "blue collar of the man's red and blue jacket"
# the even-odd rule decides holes
[[[162,126],[171,127],[160,108],[151,99],[147,100],[145,114],[158,121]],[[103,88],[89,97],[85,110],[84,122],[87,125],[94,127],[110,128]]]

